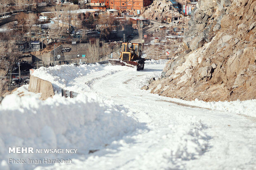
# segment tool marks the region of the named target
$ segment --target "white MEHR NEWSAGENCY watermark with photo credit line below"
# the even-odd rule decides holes
[[[33,147],[9,147],[9,154],[76,154],[77,149],[34,149]],[[32,158],[9,158],[8,163],[12,164],[54,164],[54,163],[72,163],[70,158],[43,158],[43,159],[32,159]]]

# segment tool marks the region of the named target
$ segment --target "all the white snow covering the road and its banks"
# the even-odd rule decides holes
[[[40,100],[26,85],[4,98],[0,169],[254,169],[256,100],[185,101],[141,90],[161,76],[166,61],[145,61],[140,71],[100,64],[35,70],[55,95]],[[60,88],[79,95],[62,98]],[[8,154],[13,146],[77,148],[78,154]],[[9,164],[10,157],[72,163]]]

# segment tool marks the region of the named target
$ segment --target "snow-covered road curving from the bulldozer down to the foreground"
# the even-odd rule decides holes
[[[179,106],[166,97],[140,90],[137,82],[161,72],[164,65],[159,66],[147,65],[141,72],[118,72],[93,84],[93,91],[128,108],[130,116],[147,128],[131,136],[134,142],[124,145],[119,154],[98,161],[110,163],[108,169],[255,168],[256,119]],[[90,161],[88,166],[94,163]]]

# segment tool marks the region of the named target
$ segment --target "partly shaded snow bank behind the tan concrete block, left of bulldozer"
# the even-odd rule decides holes
[[[88,84],[92,80],[100,79],[104,76],[114,74],[122,70],[136,70],[135,68],[124,67],[120,65],[56,65],[54,67],[40,67],[33,72],[33,76],[47,80],[52,83],[55,94],[60,92],[60,88],[84,93],[90,91]],[[56,92],[57,91],[57,92]]]

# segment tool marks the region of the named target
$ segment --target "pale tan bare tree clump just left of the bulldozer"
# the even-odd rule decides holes
[[[100,56],[100,40],[95,42],[90,41],[88,45],[87,58],[89,63],[94,63],[99,60]]]

